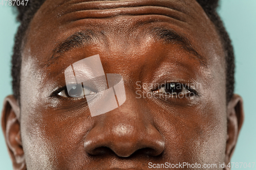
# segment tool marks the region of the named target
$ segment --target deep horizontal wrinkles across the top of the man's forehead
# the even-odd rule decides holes
[[[62,22],[91,18],[110,18],[119,15],[163,15],[186,21],[186,3],[170,0],[142,1],[68,1],[55,11]]]

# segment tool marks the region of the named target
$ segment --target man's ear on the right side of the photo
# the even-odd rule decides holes
[[[238,135],[244,122],[243,100],[240,95],[234,94],[227,106],[227,141],[225,152],[225,169],[230,162]]]

